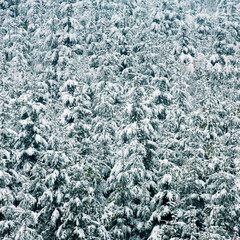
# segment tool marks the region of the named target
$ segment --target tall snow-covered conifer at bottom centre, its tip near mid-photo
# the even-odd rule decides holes
[[[121,161],[115,163],[107,182],[107,227],[119,239],[147,236],[149,229],[144,223],[150,217],[150,189],[155,187],[150,169],[155,166],[157,124],[139,82],[135,77],[135,85],[126,91],[130,101],[123,110],[127,121],[120,127]]]

